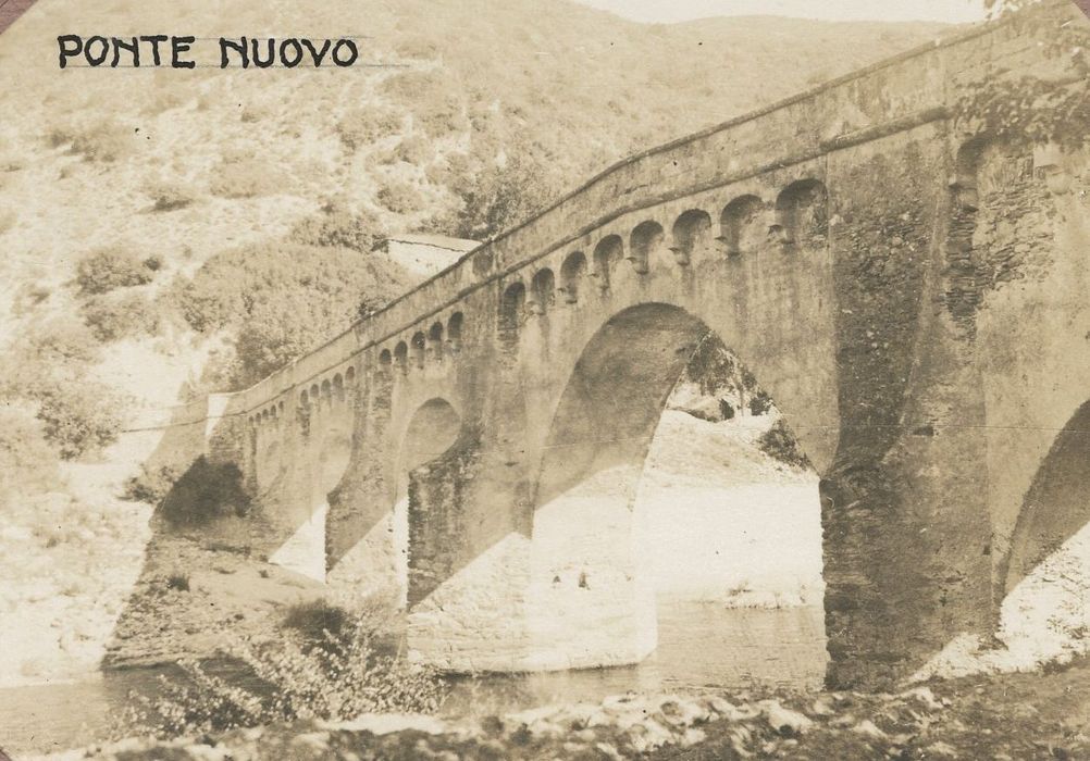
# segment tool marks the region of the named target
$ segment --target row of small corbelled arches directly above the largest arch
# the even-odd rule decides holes
[[[499,306],[500,335],[511,337],[518,332],[524,314],[544,315],[557,300],[576,304],[586,277],[594,278],[601,291],[609,289],[614,267],[627,259],[639,274],[650,271],[651,256],[664,245],[675,261],[687,267],[697,255],[718,248],[728,258],[737,258],[774,238],[785,247],[818,245],[828,234],[828,193],[819,180],[800,180],[788,185],[777,196],[772,223],[764,219],[768,205],[754,195],[732,199],[718,214],[718,235],[714,234],[712,216],[703,209],[689,209],[675,220],[667,241],[663,226],[645,220],[632,229],[625,240],[616,234],[603,237],[594,246],[591,260],[583,251],[569,254],[560,266],[557,282],[552,269],[538,270],[530,287],[520,280],[505,289]]]

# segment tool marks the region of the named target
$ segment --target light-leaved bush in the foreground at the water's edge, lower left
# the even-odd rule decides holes
[[[371,615],[349,616],[322,647],[300,636],[255,645],[235,640],[225,654],[245,664],[259,685],[232,685],[193,660],[179,662],[183,679],[159,677],[154,697],[136,701],[122,720],[128,732],[179,737],[363,713],[434,713],[446,694],[435,671],[380,655]]]

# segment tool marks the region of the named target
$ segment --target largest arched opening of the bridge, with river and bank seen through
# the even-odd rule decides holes
[[[763,663],[759,678],[819,686],[818,482],[701,320],[663,304],[618,314],[574,366],[545,444],[530,572],[538,661],[631,664],[657,649],[659,674],[706,659],[701,668],[739,680]]]

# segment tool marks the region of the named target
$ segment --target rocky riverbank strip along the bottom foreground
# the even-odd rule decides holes
[[[1076,759],[1090,754],[1090,666],[856,692],[635,696],[465,721],[362,716],[48,758]]]

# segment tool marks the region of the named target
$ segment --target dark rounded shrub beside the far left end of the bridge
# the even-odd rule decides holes
[[[237,465],[211,463],[201,455],[164,496],[160,508],[171,524],[203,526],[221,517],[244,516],[250,503]]]

